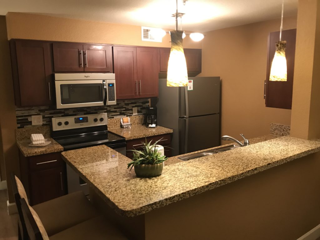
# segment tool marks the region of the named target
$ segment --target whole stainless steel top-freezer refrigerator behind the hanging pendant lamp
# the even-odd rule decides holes
[[[172,155],[220,145],[220,77],[189,77],[188,87],[159,79],[158,125],[173,129]]]

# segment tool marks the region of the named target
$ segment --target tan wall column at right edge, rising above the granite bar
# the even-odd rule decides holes
[[[292,99],[292,137],[320,138],[319,1],[299,1]]]

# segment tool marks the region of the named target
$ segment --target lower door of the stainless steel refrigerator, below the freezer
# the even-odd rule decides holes
[[[219,114],[179,118],[180,153],[190,153],[220,145]]]

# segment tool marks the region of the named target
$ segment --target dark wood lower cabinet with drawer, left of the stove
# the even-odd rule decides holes
[[[21,181],[31,205],[67,194],[66,164],[61,153],[25,157],[19,151]]]

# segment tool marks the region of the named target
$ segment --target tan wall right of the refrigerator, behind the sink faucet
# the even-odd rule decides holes
[[[269,20],[205,33],[202,74],[222,80],[221,134],[247,138],[269,134],[270,123],[290,125],[291,110],[266,108],[263,99],[268,34],[280,20]],[[296,28],[285,18],[284,29]]]

